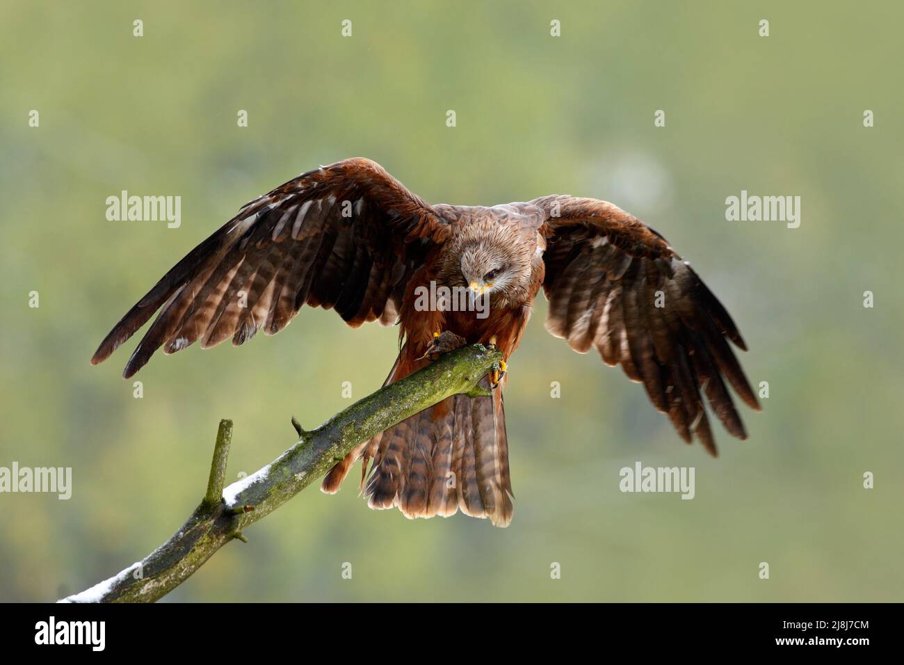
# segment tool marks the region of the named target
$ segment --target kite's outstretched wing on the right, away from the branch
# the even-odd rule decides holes
[[[703,406],[739,439],[747,432],[725,381],[750,407],[757,397],[727,339],[746,350],[729,313],[664,238],[616,205],[545,196],[546,328],[580,353],[596,347],[643,383],[686,442],[716,445]]]

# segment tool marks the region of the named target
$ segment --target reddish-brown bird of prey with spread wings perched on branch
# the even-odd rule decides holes
[[[488,307],[449,307],[448,300],[417,307],[416,293],[431,283]],[[728,343],[746,349],[744,341],[662,235],[614,204],[568,195],[431,205],[362,157],[308,171],[245,204],[138,300],[91,363],[103,362],[157,310],[126,378],[160,347],[171,354],[228,337],[239,346],[261,329],[278,333],[308,305],[335,309],[353,328],[398,323],[388,384],[465,343],[493,344],[507,361],[541,288],[551,334],[621,365],[685,442],[696,437],[716,454],[703,394],[728,432],[746,438],[726,387],[759,410]],[[492,396],[449,397],[375,436],[338,462],[322,489],[337,491],[362,460],[371,508],[398,507],[408,518],[460,508],[507,526],[506,383],[494,372],[482,381]]]

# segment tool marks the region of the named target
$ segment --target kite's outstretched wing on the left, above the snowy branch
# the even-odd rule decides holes
[[[353,327],[395,323],[405,286],[447,224],[370,159],[309,171],[244,205],[168,271],[100,343],[103,362],[160,314],[129,358],[134,375],[159,347],[240,345],[285,328],[302,305]]]

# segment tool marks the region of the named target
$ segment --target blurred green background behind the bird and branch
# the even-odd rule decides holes
[[[0,466],[71,466],[74,489],[0,495],[0,599],[78,592],[162,543],[221,417],[234,479],[293,442],[291,414],[315,425],[343,381],[381,384],[397,329],[308,309],[241,350],[158,354],[143,399],[119,375],[137,340],[88,363],[241,204],[366,156],[434,203],[568,193],[638,215],[734,315],[765,411],[744,412],[748,442],[719,428],[712,460],[548,335],[538,301],[506,393],[511,527],[312,487],[168,600],[901,600],[902,20],[893,2],[3,3]],[[123,189],[181,195],[182,226],[108,222]],[[742,189],[800,195],[800,228],[727,222]],[[622,494],[635,461],[694,466],[696,498]]]

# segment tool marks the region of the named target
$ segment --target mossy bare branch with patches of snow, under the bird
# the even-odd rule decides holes
[[[483,394],[477,383],[502,359],[480,345],[459,348],[423,369],[364,397],[310,432],[295,418],[298,440],[276,460],[223,488],[232,423],[217,433],[211,472],[201,504],[162,546],[118,575],[67,603],[153,603],[182,584],[231,540],[248,542],[242,530],[279,508],[325,474],[336,460],[375,434],[453,394]]]

